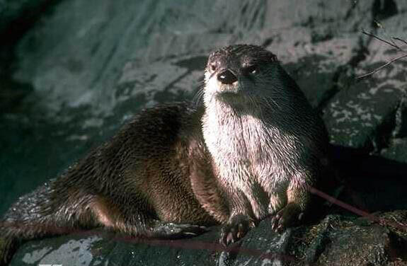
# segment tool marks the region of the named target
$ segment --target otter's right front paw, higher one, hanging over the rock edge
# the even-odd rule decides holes
[[[297,224],[302,219],[303,212],[297,204],[287,204],[271,219],[271,228],[276,233],[281,233],[287,227]]]

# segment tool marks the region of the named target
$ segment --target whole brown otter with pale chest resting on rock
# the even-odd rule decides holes
[[[208,59],[201,104],[143,110],[18,199],[0,225],[4,259],[22,241],[99,226],[183,238],[222,224],[224,245],[267,216],[283,231],[309,209],[327,144],[321,118],[275,54],[220,48]]]

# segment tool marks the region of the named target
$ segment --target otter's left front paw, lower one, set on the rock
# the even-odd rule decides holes
[[[235,215],[223,226],[219,242],[229,245],[239,241],[246,233],[255,227],[255,221],[246,215]]]

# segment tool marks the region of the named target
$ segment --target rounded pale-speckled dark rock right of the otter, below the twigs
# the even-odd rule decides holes
[[[341,90],[328,103],[324,115],[331,143],[367,152],[382,148],[402,95],[402,88],[389,79],[365,79]]]

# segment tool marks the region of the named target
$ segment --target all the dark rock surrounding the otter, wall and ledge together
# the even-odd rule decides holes
[[[231,250],[103,231],[30,241],[11,265],[407,265],[406,0],[0,0],[0,215],[141,108],[192,99],[207,54],[277,54],[319,110],[337,170],[323,215]]]

